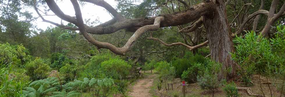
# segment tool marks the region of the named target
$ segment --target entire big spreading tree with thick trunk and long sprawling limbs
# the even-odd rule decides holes
[[[164,3],[161,3],[161,5],[158,5],[157,7],[159,8],[161,6],[167,6],[168,4],[170,4],[172,5],[172,8],[169,9],[172,9],[174,13],[160,14],[154,17],[146,17],[147,15],[143,15],[142,17],[136,16],[137,18],[128,19],[123,15],[121,15],[119,12],[117,12],[111,5],[109,5],[107,2],[103,0],[79,0],[80,2],[88,2],[95,4],[97,6],[101,6],[113,15],[114,18],[111,19],[110,21],[107,21],[105,23],[102,23],[94,27],[84,24],[82,19],[81,9],[77,0],[70,0],[70,1],[72,2],[72,5],[74,7],[75,17],[64,14],[64,12],[60,10],[60,8],[57,6],[54,0],[45,0],[45,3],[49,6],[50,10],[56,14],[56,16],[67,22],[73,23],[74,25],[76,25],[76,27],[69,27],[63,24],[58,24],[53,21],[46,20],[42,17],[42,15],[38,11],[37,1],[33,2],[33,6],[43,21],[57,25],[63,29],[79,30],[80,33],[85,37],[85,39],[87,39],[93,45],[97,46],[97,48],[109,49],[113,53],[119,55],[125,55],[129,50],[131,50],[131,48],[136,43],[136,41],[138,41],[140,36],[142,36],[144,33],[148,31],[155,31],[163,27],[184,25],[197,20],[192,26],[188,27],[189,29],[187,31],[193,32],[197,28],[200,28],[200,25],[203,23],[204,28],[206,28],[208,41],[205,41],[202,44],[187,45],[181,42],[167,44],[158,38],[153,38],[152,35],[150,35],[150,37],[147,39],[158,41],[165,46],[182,45],[184,47],[187,47],[189,50],[195,50],[196,48],[202,47],[209,43],[211,49],[211,58],[215,61],[223,63],[224,69],[227,69],[229,67],[232,69],[231,73],[227,75],[228,77],[232,77],[236,74],[236,63],[234,61],[231,61],[231,55],[229,54],[231,52],[234,52],[231,37],[240,34],[241,33],[240,31],[243,30],[245,23],[247,23],[250,19],[252,19],[258,14],[268,13],[270,18],[274,17],[274,19],[270,19],[270,22],[267,22],[269,23],[268,25],[272,25],[272,22],[276,21],[276,18],[279,18],[284,15],[284,8],[285,8],[285,4],[283,4],[282,8],[280,8],[280,11],[276,15],[274,15],[274,11],[272,10],[275,10],[276,6],[274,7],[273,4],[278,2],[278,0],[273,0],[272,8],[270,8],[269,12],[266,13],[266,11],[263,10],[255,12],[254,14],[250,15],[245,19],[246,21],[242,23],[242,25],[235,34],[232,34],[231,29],[229,28],[227,15],[226,15],[227,14],[226,8],[225,8],[225,5],[229,4],[230,1],[225,3],[224,0],[206,0],[205,2],[190,7],[189,5],[191,4],[186,3],[184,0],[178,0],[177,4],[178,8],[180,8],[181,5],[183,5],[185,10],[182,11],[179,9],[179,12],[174,12],[174,9],[177,7],[174,6],[175,3],[173,3],[172,0],[169,1],[166,0]],[[179,3],[182,4],[179,5]],[[122,29],[134,33],[128,39],[125,45],[121,47],[116,47],[111,43],[100,42],[94,39],[90,35],[90,34],[112,34]],[[266,31],[268,30],[264,30],[263,32]]]

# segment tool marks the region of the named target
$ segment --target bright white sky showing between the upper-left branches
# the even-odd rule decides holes
[[[117,2],[114,0],[104,0],[107,3],[109,3],[113,8],[116,8]],[[72,3],[69,0],[63,0],[63,1],[56,1],[57,5],[59,8],[67,15],[70,16],[75,16],[74,8],[72,6]],[[94,5],[92,3],[86,3],[84,6],[80,6],[81,8],[81,13],[83,20],[84,19],[91,19],[90,21],[95,21],[98,19],[101,23],[104,23],[106,21],[109,21],[112,19],[111,14],[109,14],[108,11],[106,11],[104,8],[101,6]],[[35,12],[33,8],[24,8],[28,10],[29,12],[32,12],[33,17],[38,17],[39,15]],[[38,8],[40,10],[43,10],[44,8]],[[44,15],[43,13],[41,13]],[[52,11],[48,12],[49,15],[54,15]],[[44,19],[53,21],[55,23],[59,23],[61,19],[57,16],[43,16]],[[63,24],[66,25],[68,22],[63,21]],[[42,30],[47,29],[47,27],[55,27],[55,25],[52,25],[50,23],[43,22],[41,18],[38,18],[36,21],[33,22],[34,25],[37,25],[38,28],[41,28]],[[99,25],[99,23],[97,24]]]

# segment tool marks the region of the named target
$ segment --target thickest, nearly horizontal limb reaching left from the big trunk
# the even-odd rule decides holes
[[[49,8],[61,19],[77,25],[77,20],[75,17],[68,16],[64,14],[60,8],[56,5],[54,0],[46,0]],[[183,25],[194,20],[199,19],[201,16],[213,14],[212,2],[200,3],[193,8],[189,8],[185,11],[174,13],[174,14],[161,14],[156,17],[164,17],[164,21],[161,22],[160,27],[169,27],[176,25]],[[127,29],[128,31],[135,32],[138,28],[145,25],[152,25],[156,17],[150,18],[136,18],[136,19],[126,19],[123,21],[116,22],[116,19],[112,19],[101,25],[90,27],[85,25],[87,33],[90,34],[111,34],[121,29]],[[79,29],[77,29],[79,30]]]

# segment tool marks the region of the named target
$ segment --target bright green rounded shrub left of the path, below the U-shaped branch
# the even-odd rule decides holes
[[[130,73],[131,65],[119,58],[111,58],[101,63],[101,68],[106,76],[114,79],[123,79]]]

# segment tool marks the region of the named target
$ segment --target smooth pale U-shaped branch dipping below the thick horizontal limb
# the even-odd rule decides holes
[[[85,25],[84,25],[83,19],[82,19],[81,10],[80,10],[80,7],[79,7],[79,4],[78,4],[77,0],[70,0],[70,1],[72,2],[72,5],[73,5],[74,10],[75,10],[75,15],[76,15],[76,19],[78,21],[79,30],[83,34],[85,39],[87,39],[90,43],[92,43],[93,45],[97,46],[98,48],[106,48],[106,49],[111,50],[113,53],[119,54],[119,55],[126,54],[126,52],[128,52],[130,50],[130,48],[133,46],[133,44],[138,40],[138,38],[143,33],[147,32],[147,31],[158,30],[158,28],[160,27],[161,21],[163,21],[163,19],[164,19],[163,17],[156,17],[155,20],[154,20],[154,24],[153,25],[145,25],[145,26],[139,28],[133,34],[133,36],[131,36],[131,38],[127,41],[127,43],[123,47],[119,48],[119,47],[115,47],[114,45],[112,45],[110,43],[99,42],[99,41],[93,39],[86,32]]]

